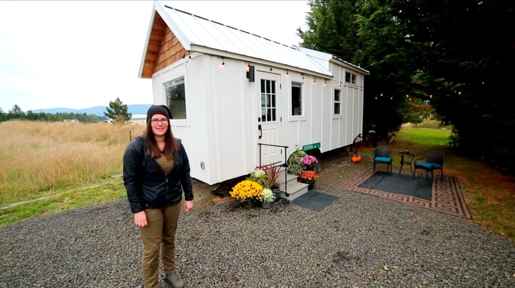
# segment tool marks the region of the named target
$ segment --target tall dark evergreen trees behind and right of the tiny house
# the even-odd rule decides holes
[[[311,0],[310,7],[301,46],[370,71],[364,132],[398,130],[414,108],[430,104],[454,127],[453,146],[515,174],[511,2]]]

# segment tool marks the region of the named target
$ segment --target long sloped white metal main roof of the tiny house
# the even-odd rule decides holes
[[[158,1],[155,1],[155,5],[161,6]],[[156,10],[166,13],[161,17],[168,18],[164,20],[168,26],[172,26],[170,29],[181,36],[179,40],[181,43],[184,42],[184,47],[191,47],[193,51],[194,45],[204,46],[333,76],[331,71],[293,46],[283,45],[165,5],[156,7]],[[179,31],[175,31],[176,29]],[[185,39],[181,40],[182,37]]]

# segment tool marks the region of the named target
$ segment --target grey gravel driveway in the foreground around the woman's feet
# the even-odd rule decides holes
[[[515,246],[475,224],[317,190],[339,199],[322,212],[282,201],[182,213],[186,286],[515,287]],[[141,287],[141,249],[126,199],[29,219],[0,228],[0,287]]]

